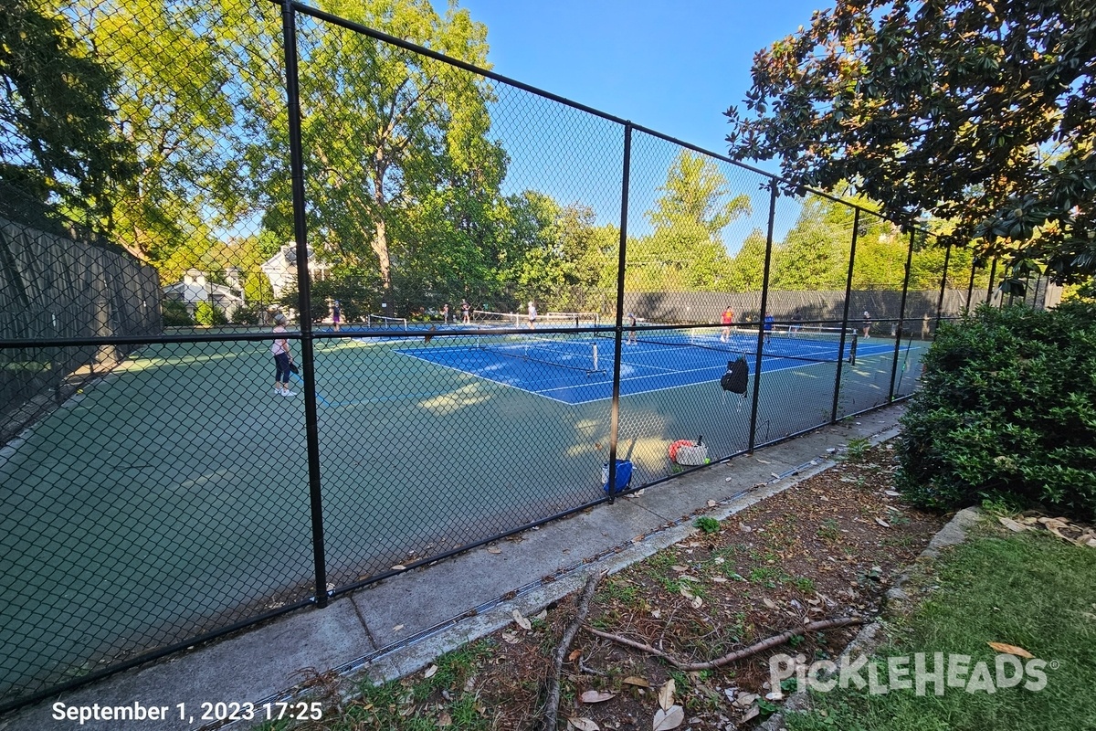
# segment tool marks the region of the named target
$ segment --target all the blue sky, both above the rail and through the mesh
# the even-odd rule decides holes
[[[444,0],[434,0],[444,12]],[[753,55],[810,23],[830,0],[459,0],[488,27],[496,73],[642,125],[703,149],[727,152],[727,117],[751,85]],[[619,220],[621,129],[583,114],[560,114],[511,95],[493,114],[493,133],[511,157],[503,190],[538,190],[556,201],[591,206],[598,222]],[[633,138],[629,233],[650,230],[643,212],[659,197],[680,148]],[[755,167],[778,172],[772,162]],[[732,194],[753,212],[723,231],[734,253],[764,229],[768,196],[761,178],[722,167]],[[777,240],[798,205],[781,199]]]

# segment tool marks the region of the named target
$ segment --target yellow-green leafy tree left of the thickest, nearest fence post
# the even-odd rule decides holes
[[[248,153],[272,148],[277,127],[254,124],[244,102],[250,88],[277,94],[284,83],[278,65],[259,76],[246,59],[281,49],[246,5],[227,22],[215,2],[41,1],[116,72],[111,137],[139,165],[113,194],[113,239],[172,278],[168,262],[196,265],[218,229],[254,212],[246,192],[259,172]]]

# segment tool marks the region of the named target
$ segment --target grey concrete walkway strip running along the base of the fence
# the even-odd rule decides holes
[[[192,652],[118,673],[93,685],[0,718],[0,731],[54,729],[175,730],[224,728],[203,712],[213,704],[287,700],[301,672],[406,675],[438,654],[512,621],[512,613],[536,614],[579,590],[590,571],[616,571],[695,530],[697,515],[723,518],[833,464],[830,449],[857,437],[878,442],[898,433],[903,407],[863,414],[753,456],[680,477],[593,510],[383,581]],[[709,501],[716,506],[709,507]],[[135,708],[141,720],[57,720],[64,711],[94,713],[103,707]],[[182,718],[180,718],[182,709]],[[224,712],[224,711],[222,711]],[[275,710],[276,712],[276,710]],[[139,713],[139,711],[138,711]],[[215,718],[215,717],[214,717]],[[252,722],[236,722],[243,729]]]

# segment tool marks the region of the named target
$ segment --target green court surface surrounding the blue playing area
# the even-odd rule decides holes
[[[604,496],[610,400],[560,402],[401,345],[316,344],[329,587]],[[900,355],[901,393],[917,346]],[[844,364],[840,413],[886,403],[891,364]],[[835,369],[764,374],[758,444],[829,422]],[[272,386],[265,342],[151,344],[0,452],[0,695],[313,594],[304,397]],[[744,450],[751,406],[718,374],[621,397],[632,487],[674,473],[680,438]]]

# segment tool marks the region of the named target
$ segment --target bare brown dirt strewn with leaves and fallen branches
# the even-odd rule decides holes
[[[893,491],[895,468],[890,445],[859,448],[726,521],[701,521],[689,539],[602,579],[584,626],[684,664],[717,661],[806,621],[870,619],[892,580],[946,519],[903,504]],[[552,656],[578,604],[572,595],[537,617],[515,617],[477,643],[479,666],[463,688],[478,699],[476,728],[540,728],[555,677]],[[857,630],[812,632],[751,658],[686,672],[581,629],[560,676],[559,728],[753,728],[778,708],[778,699],[766,699],[776,690],[768,684],[773,655],[832,658]],[[402,683],[410,688],[424,677],[418,673]],[[408,711],[422,720],[434,717],[433,728],[453,723],[445,710],[452,698],[415,695]]]

